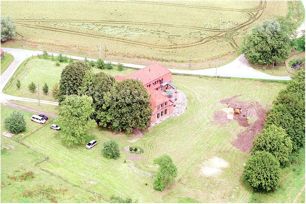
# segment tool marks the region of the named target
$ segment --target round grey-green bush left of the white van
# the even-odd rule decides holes
[[[24,131],[26,128],[25,125],[25,118],[21,112],[14,111],[4,119],[4,126],[13,134]]]

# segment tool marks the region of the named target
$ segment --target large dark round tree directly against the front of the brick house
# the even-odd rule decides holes
[[[134,79],[115,82],[104,95],[103,111],[97,113],[100,125],[115,131],[131,133],[133,128],[147,127],[152,107],[150,94],[144,85]]]

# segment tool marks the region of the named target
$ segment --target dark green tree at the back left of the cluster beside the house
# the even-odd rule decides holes
[[[56,98],[62,102],[65,95],[76,95],[80,89],[85,72],[89,69],[87,63],[75,61],[67,65],[61,74],[59,91]]]

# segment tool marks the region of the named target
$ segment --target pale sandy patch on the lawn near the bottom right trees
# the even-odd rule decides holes
[[[226,168],[229,163],[221,158],[214,157],[203,161],[200,169],[200,174],[203,176],[218,176]]]

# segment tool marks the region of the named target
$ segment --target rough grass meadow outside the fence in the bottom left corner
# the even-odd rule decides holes
[[[1,114],[2,116],[2,114]],[[45,200],[42,194],[33,197],[22,196],[24,191],[32,191],[34,188],[42,189],[51,187],[53,189],[67,189],[65,195],[58,193],[55,198],[59,203],[62,202],[104,202],[102,198],[95,197],[93,194],[83,191],[80,188],[73,187],[61,179],[57,179],[48,173],[43,172],[38,167],[34,167],[34,161],[41,159],[40,154],[29,150],[27,147],[17,142],[1,136],[1,145],[9,147],[9,150],[1,150],[1,202],[50,202]],[[20,176],[24,172],[33,171],[34,178],[32,180],[21,181],[19,179],[12,180],[9,176]],[[39,187],[39,185],[41,187]]]

